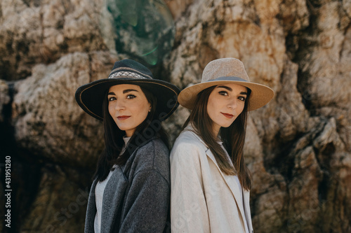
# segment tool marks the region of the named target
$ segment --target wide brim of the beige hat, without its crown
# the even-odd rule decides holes
[[[230,80],[237,79],[237,80]],[[198,83],[182,90],[178,96],[178,102],[181,106],[185,108],[194,108],[195,101],[197,99],[197,94],[208,87],[223,85],[227,83],[234,83],[238,85],[243,85],[251,90],[249,97],[249,108],[248,111],[256,110],[260,107],[265,106],[274,97],[274,91],[265,85],[259,83],[251,83],[241,78],[237,77],[226,77],[226,80],[216,80],[207,81],[205,83]]]

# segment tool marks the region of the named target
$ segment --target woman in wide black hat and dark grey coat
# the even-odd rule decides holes
[[[109,78],[78,88],[79,106],[105,127],[85,232],[168,230],[170,167],[161,121],[178,107],[179,92],[130,59],[116,62]]]

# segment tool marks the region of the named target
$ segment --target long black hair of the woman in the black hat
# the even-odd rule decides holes
[[[126,145],[127,147],[124,150],[124,153],[121,153],[121,150],[124,147],[123,136],[125,136],[125,132],[117,127],[116,122],[114,122],[108,111],[108,90],[106,91],[105,98],[102,102],[105,149],[100,154],[96,171],[93,176],[93,178],[98,181],[104,181],[105,178],[107,178],[114,164],[126,164],[131,154],[154,136],[161,139],[169,150],[168,135],[162,127],[161,121],[158,118],[159,113],[156,111],[157,99],[145,87],[140,86],[140,88],[145,94],[147,101],[151,104],[151,111],[147,114],[145,120],[136,127],[133,136],[131,136],[131,139],[129,139],[128,144]]]

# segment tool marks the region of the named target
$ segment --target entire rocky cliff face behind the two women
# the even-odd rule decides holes
[[[74,92],[106,78],[118,59],[147,62],[133,51],[138,41],[123,40],[135,31],[116,34],[112,3],[0,3],[0,150],[11,156],[13,190],[12,227],[1,221],[3,232],[83,230],[103,141],[101,123],[79,109]],[[165,3],[174,26],[164,3],[152,1],[155,18],[168,20],[158,48],[173,45],[148,64],[157,78],[183,88],[212,59],[237,57],[251,80],[276,93],[249,118],[255,231],[351,232],[351,1]],[[180,107],[166,120],[172,139],[187,115]]]

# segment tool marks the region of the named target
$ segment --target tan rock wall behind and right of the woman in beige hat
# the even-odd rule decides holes
[[[250,114],[246,137],[256,232],[351,230],[347,10],[346,1],[194,1],[176,21],[178,46],[164,62],[173,83],[197,83],[212,59],[237,57],[276,92]]]

